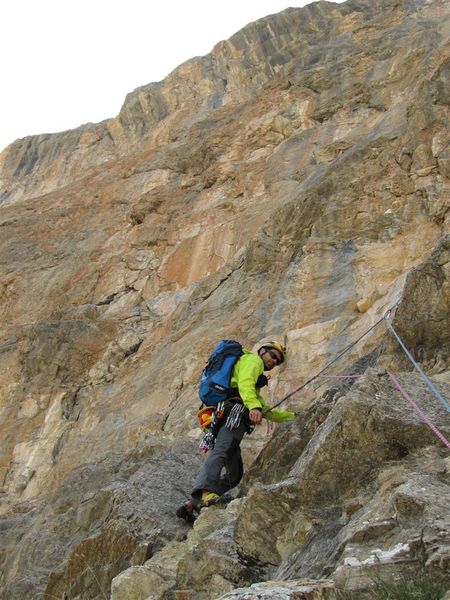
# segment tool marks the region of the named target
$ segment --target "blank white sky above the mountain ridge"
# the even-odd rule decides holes
[[[27,135],[114,117],[128,92],[207,54],[251,21],[305,4],[3,0],[0,151]]]

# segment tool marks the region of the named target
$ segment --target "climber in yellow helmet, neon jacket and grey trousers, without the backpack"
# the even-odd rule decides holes
[[[190,500],[176,511],[178,517],[189,523],[194,522],[195,512],[216,504],[242,479],[240,443],[245,433],[251,433],[256,425],[261,425],[263,418],[277,423],[295,418],[292,412],[269,410],[260,395],[260,388],[267,384],[263,372],[284,362],[285,347],[280,342],[269,341],[263,342],[256,353],[243,352],[233,368],[230,397],[225,401],[222,417],[216,425],[214,448],[200,469]]]

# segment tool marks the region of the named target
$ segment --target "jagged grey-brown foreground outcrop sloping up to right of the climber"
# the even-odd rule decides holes
[[[411,299],[425,294],[444,309],[435,324],[448,340],[448,275],[433,295],[425,273],[419,267],[409,276],[395,327],[406,339],[413,324],[410,332],[430,322],[416,304],[408,312]],[[377,358],[352,366],[357,378],[338,380],[293,424],[280,427],[249,469],[240,497],[204,509],[192,531],[186,526],[186,540],[121,573],[112,599],[162,599],[174,589],[200,600],[326,599],[343,590],[360,597],[376,577],[445,578],[450,414],[420,374],[397,373],[439,424],[446,447],[389,378],[387,369],[400,359],[393,348],[386,338]],[[434,383],[448,401],[450,370]],[[268,581],[251,585],[261,580]]]

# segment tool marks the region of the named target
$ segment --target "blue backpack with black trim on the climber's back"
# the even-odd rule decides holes
[[[198,390],[205,406],[217,406],[228,397],[233,367],[243,354],[242,345],[234,340],[222,340],[211,352]]]

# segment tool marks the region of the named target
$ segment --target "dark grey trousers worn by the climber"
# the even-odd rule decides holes
[[[221,496],[234,488],[242,479],[240,443],[247,433],[247,425],[241,423],[237,429],[230,431],[222,425],[216,437],[214,448],[209,452],[194,483],[192,501],[200,504],[202,491],[209,490]],[[225,473],[222,470],[225,468]]]

